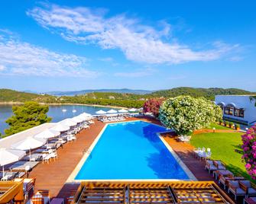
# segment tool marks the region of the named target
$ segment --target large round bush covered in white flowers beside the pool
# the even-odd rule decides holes
[[[159,110],[164,126],[173,128],[179,135],[191,135],[210,123],[222,119],[222,109],[203,97],[180,96],[165,100]]]

